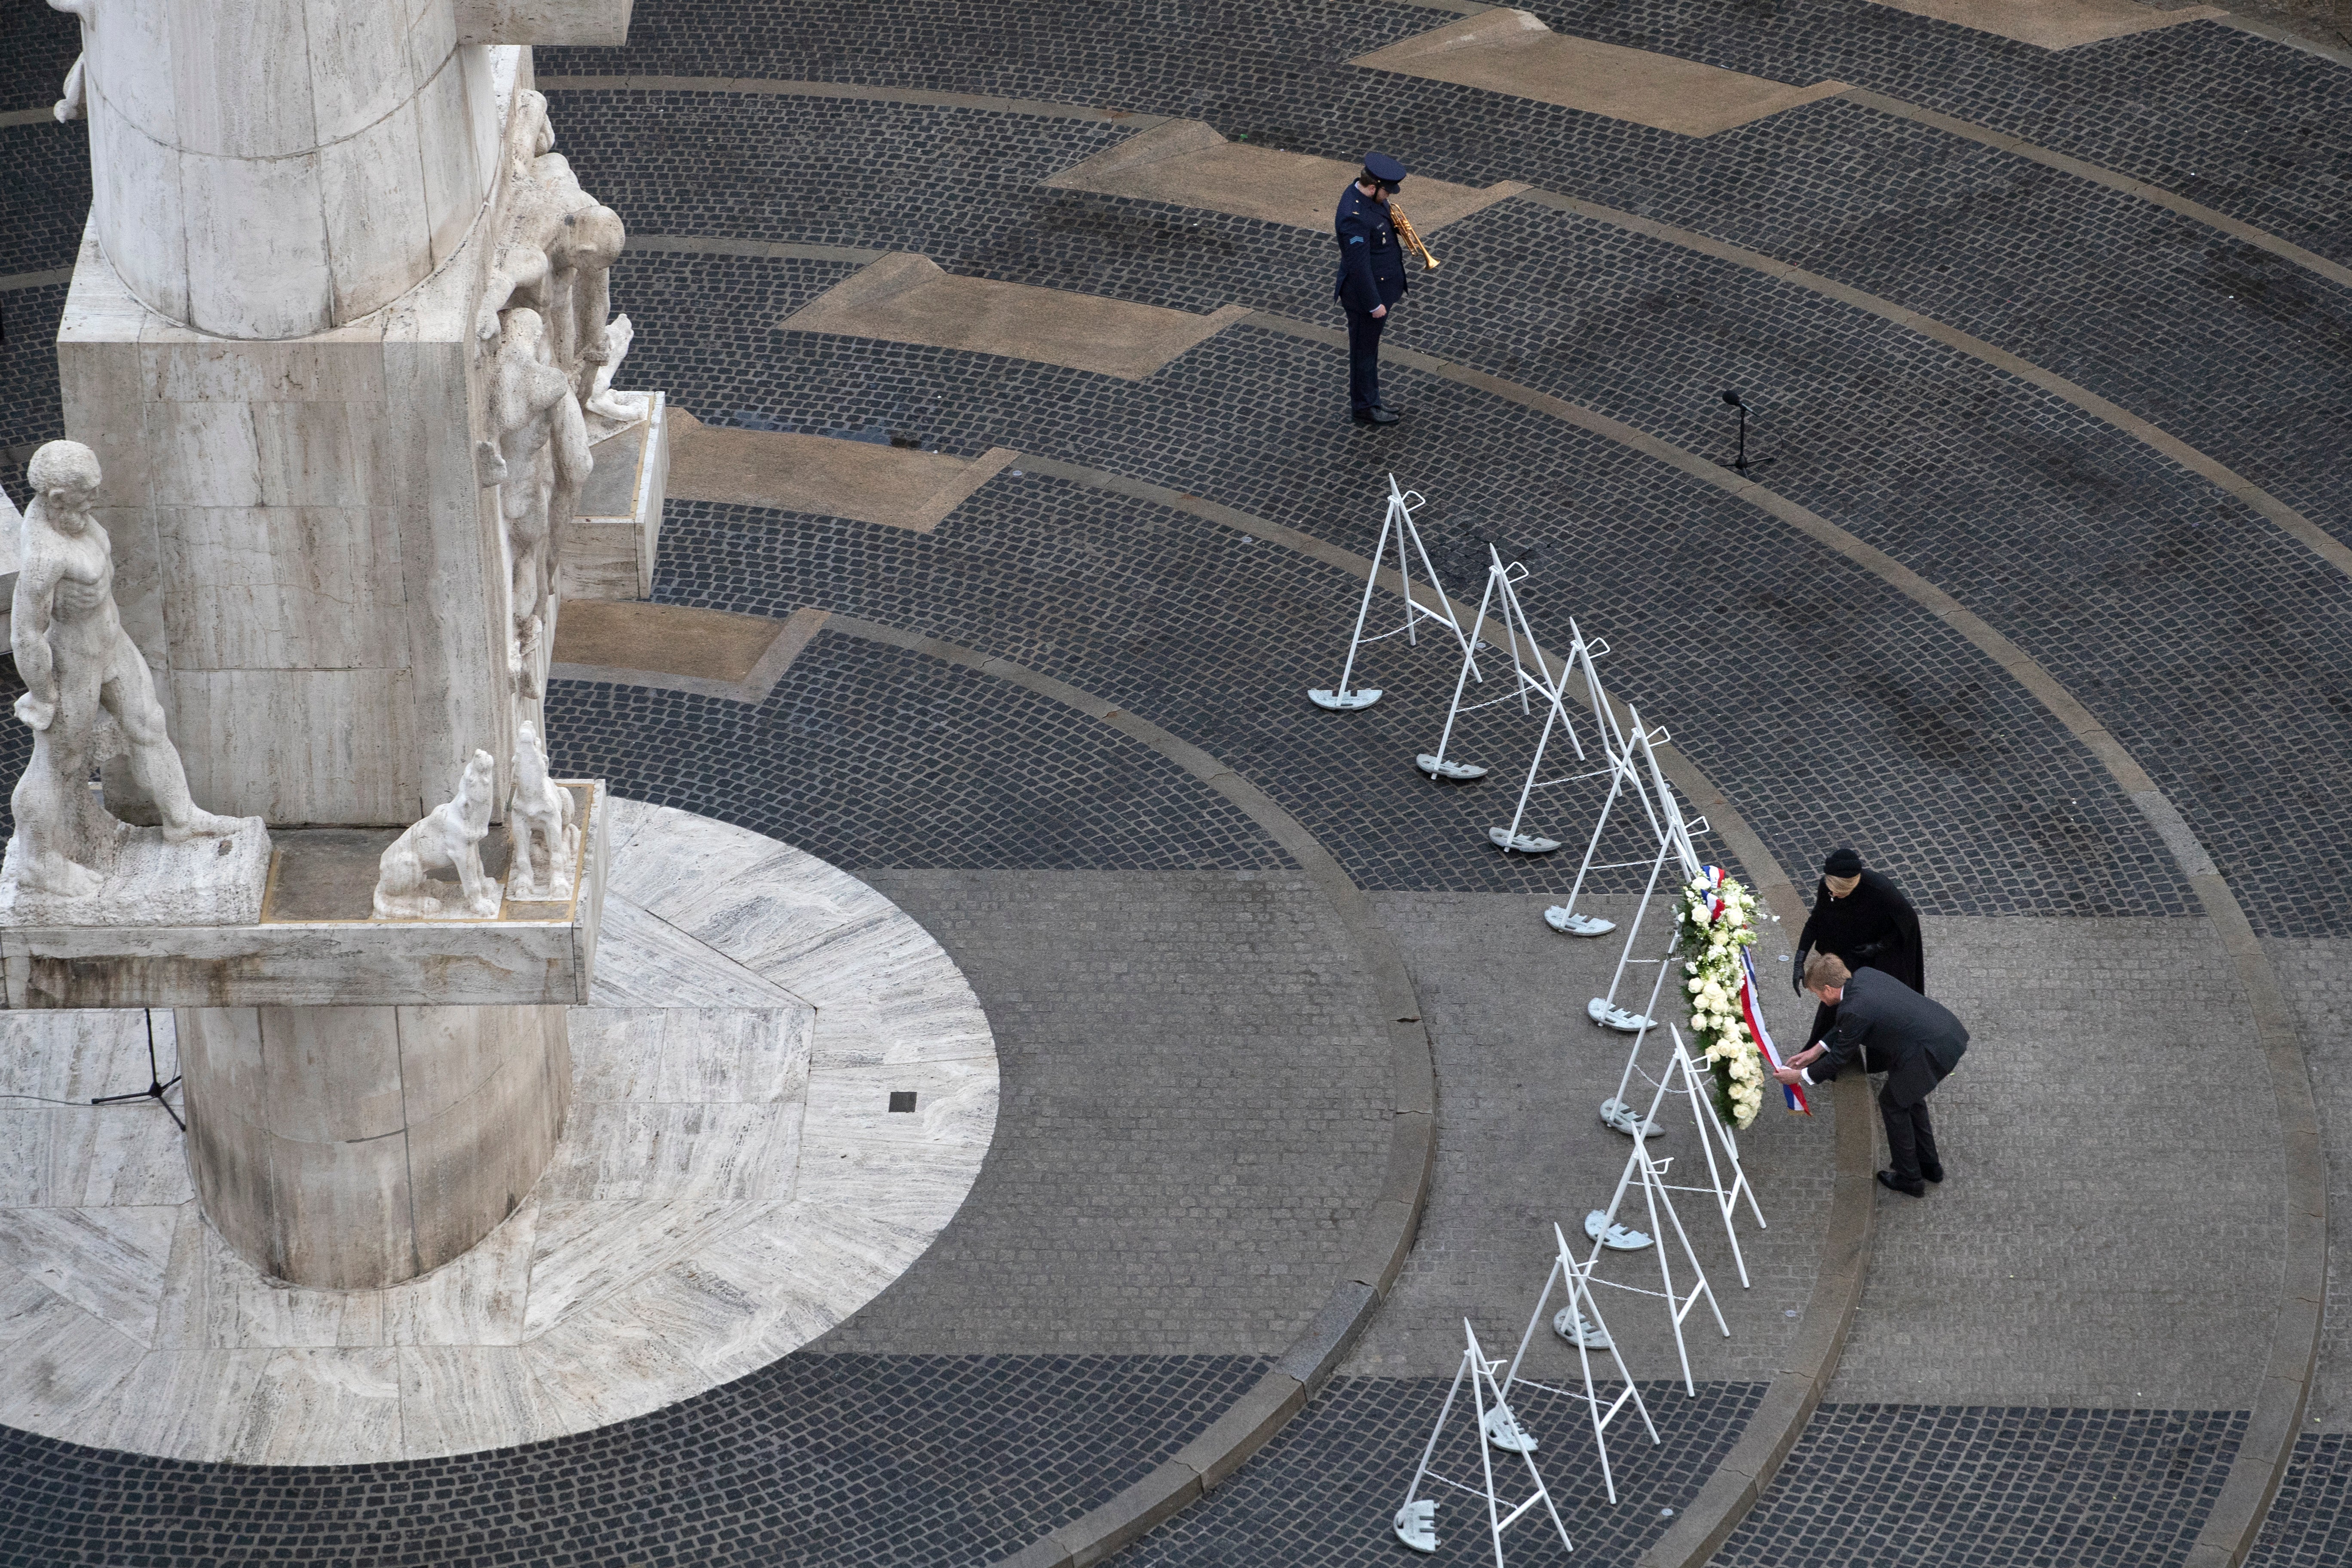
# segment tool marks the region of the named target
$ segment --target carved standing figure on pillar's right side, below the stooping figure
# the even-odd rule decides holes
[[[550,362],[536,310],[515,308],[503,317],[489,374],[489,418],[499,437],[482,444],[477,477],[499,487],[499,517],[515,569],[515,672],[522,693],[536,696],[532,668],[548,597],[548,538],[553,522],[572,515],[595,465],[581,404]]]

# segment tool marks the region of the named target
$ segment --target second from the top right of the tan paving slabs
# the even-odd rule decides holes
[[[2117,0],[2129,2],[2129,0]],[[2138,7],[2133,7],[2138,9]],[[1830,99],[1844,82],[1795,87],[1698,61],[1569,38],[1529,12],[1479,12],[1350,61],[1517,99],[1632,120],[1661,132],[1712,136],[1783,108]]]

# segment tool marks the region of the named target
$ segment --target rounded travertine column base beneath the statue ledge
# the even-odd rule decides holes
[[[179,1009],[188,1166],[263,1274],[383,1288],[532,1190],[572,1105],[560,1006]]]

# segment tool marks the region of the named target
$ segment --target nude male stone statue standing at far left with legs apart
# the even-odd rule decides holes
[[[99,456],[80,442],[49,442],[33,454],[26,480],[33,505],[24,515],[9,649],[24,679],[16,717],[33,726],[33,762],[12,797],[16,839],[7,863],[16,886],[92,898],[129,835],[89,792],[106,717],[122,731],[132,778],[153,797],[167,844],[228,837],[242,823],[188,799],[155,677],[115,611],[113,541],[89,510]]]

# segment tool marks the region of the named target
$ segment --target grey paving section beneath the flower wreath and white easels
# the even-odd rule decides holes
[[[1573,865],[1566,867],[1573,872]],[[1616,938],[1559,936],[1541,914],[1557,898],[1510,893],[1378,893],[1381,919],[1397,933],[1414,990],[1437,1048],[1437,1171],[1421,1239],[1404,1262],[1397,1288],[1357,1342],[1348,1375],[1435,1378],[1451,1375],[1463,1354],[1463,1319],[1479,1333],[1486,1354],[1510,1354],[1536,1295],[1552,1267],[1552,1225],[1585,1251],[1583,1218],[1606,1208],[1625,1168],[1632,1140],[1599,1121],[1599,1103],[1616,1093],[1625,1070],[1625,1034],[1611,1034],[1585,1018],[1585,1001],[1609,985],[1621,945]],[[1632,898],[1595,900],[1592,912],[1632,922]],[[1663,900],[1661,900],[1663,903]],[[1585,907],[1578,900],[1578,907]],[[1665,926],[1651,910],[1642,952],[1656,957]],[[1785,990],[1788,966],[1773,954],[1771,929],[1759,945],[1766,976],[1778,973],[1778,994],[1766,994],[1766,1023],[1790,1037],[1811,1018]],[[1632,1004],[1646,1001],[1656,966],[1630,969],[1639,985]],[[1661,1004],[1668,1020],[1679,1009]],[[1663,1072],[1665,1041],[1644,1048],[1644,1070]],[[1642,1079],[1635,1093],[1646,1100]],[[1672,1159],[1670,1182],[1705,1185],[1705,1164],[1689,1105],[1668,1103],[1665,1133],[1651,1140],[1658,1159]],[[1724,1338],[1705,1300],[1684,1324],[1696,1378],[1715,1382],[1766,1380],[1783,1363],[1797,1328],[1797,1312],[1813,1291],[1813,1255],[1828,1222],[1835,1133],[1830,1110],[1788,1114],[1778,1098],[1740,1138],[1740,1157],[1764,1208],[1757,1229],[1743,1206],[1738,1246],[1748,1258],[1750,1288],[1731,1258],[1731,1244],[1705,1192],[1675,1194],[1682,1225],[1698,1251],[1708,1281],[1731,1326]],[[1623,1222],[1651,1229],[1649,1215],[1628,1201]],[[1691,1279],[1679,1253],[1668,1255],[1686,1293]],[[1658,1291],[1656,1253],[1611,1253],[1602,1279]],[[1576,1378],[1576,1352],[1555,1338],[1545,1309],[1526,1368],[1545,1380]],[[1653,1295],[1609,1291],[1599,1302],[1635,1378],[1675,1380],[1684,1399],[1665,1302]]]

